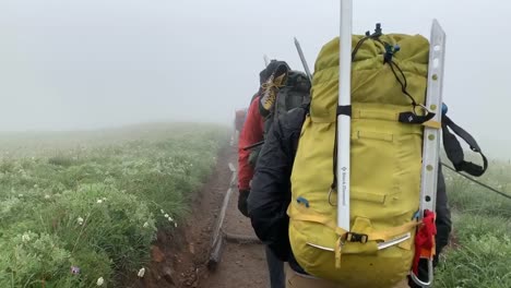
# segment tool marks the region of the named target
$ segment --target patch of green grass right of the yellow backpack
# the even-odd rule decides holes
[[[511,166],[495,161],[479,179],[510,193]],[[441,256],[436,287],[511,287],[511,200],[445,172],[456,244]]]

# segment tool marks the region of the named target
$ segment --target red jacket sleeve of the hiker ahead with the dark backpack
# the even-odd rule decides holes
[[[253,177],[253,168],[249,164],[250,149],[243,151],[245,147],[263,141],[264,137],[264,123],[259,112],[259,99],[255,97],[250,104],[249,110],[247,112],[247,118],[245,120],[243,128],[239,135],[238,142],[238,189],[239,190],[249,190],[250,180]]]

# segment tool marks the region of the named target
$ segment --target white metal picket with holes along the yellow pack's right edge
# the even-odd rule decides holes
[[[428,91],[426,107],[435,112],[437,122],[442,120],[442,87],[443,87],[443,63],[445,57],[445,33],[433,20],[431,25],[431,38],[429,39],[429,64],[428,64]],[[436,211],[437,182],[440,149],[440,129],[425,127],[423,145],[423,175],[420,183],[420,207],[419,218],[424,217],[426,209]],[[432,260],[428,259],[428,279],[420,280],[411,273],[412,279],[421,287],[431,287],[433,281]]]

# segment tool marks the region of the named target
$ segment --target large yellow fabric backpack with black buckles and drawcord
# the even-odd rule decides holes
[[[364,36],[353,36],[352,47]],[[393,61],[406,91],[424,104],[429,41],[423,36],[382,35],[366,40],[352,64],[350,231],[336,227],[331,191],[338,97],[338,38],[316,61],[310,113],[302,125],[292,173],[289,239],[302,268],[345,287],[392,287],[411,269],[419,207],[423,125],[397,121],[412,101],[383,61],[385,46],[399,45]],[[349,233],[347,233],[349,232]],[[381,249],[385,241],[405,237]]]

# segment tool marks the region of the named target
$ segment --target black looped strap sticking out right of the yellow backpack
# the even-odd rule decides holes
[[[475,153],[478,153],[483,157],[483,167],[471,161],[465,160],[463,148],[460,145],[456,136],[452,134],[449,129],[451,129],[454,134],[463,139],[471,149]],[[449,160],[456,171],[465,171],[472,176],[479,177],[486,172],[488,168],[488,160],[486,156],[480,151],[479,145],[475,139],[468,134],[463,128],[456,125],[447,115],[442,117],[442,134],[443,134],[443,148],[445,149]]]

